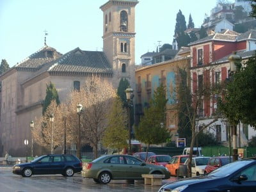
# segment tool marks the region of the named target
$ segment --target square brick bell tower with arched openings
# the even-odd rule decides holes
[[[135,6],[137,0],[109,0],[100,6],[103,12],[103,51],[113,69],[113,86],[120,79],[135,80]]]

